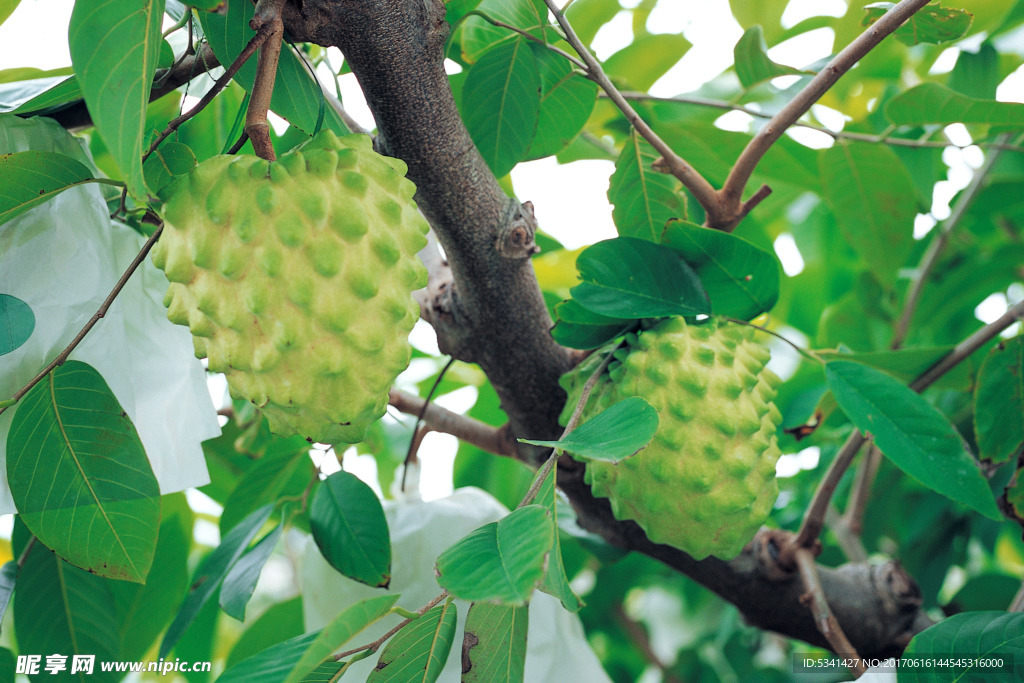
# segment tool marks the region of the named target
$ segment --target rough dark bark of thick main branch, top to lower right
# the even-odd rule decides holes
[[[552,438],[565,395],[558,377],[570,353],[549,334],[528,253],[522,242],[531,211],[502,191],[459,116],[443,70],[447,36],[437,0],[304,0],[289,5],[293,38],[339,47],[377,121],[379,146],[409,164],[417,201],[451,263],[452,281],[434,291],[426,316],[441,348],[479,364],[502,398],[516,436]],[[525,250],[528,252],[529,250]],[[532,461],[530,452],[520,457]],[[763,532],[736,559],[696,561],[646,540],[593,498],[581,465],[563,459],[559,485],[585,527],[678,569],[735,604],[754,625],[826,646],[801,603],[795,574],[773,561]],[[928,624],[913,581],[897,563],[820,567],[837,618],[863,656],[899,652]]]

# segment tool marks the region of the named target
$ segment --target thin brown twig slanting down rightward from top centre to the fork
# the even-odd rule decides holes
[[[664,159],[664,165],[672,173],[672,175],[679,178],[679,180],[686,186],[693,197],[700,203],[700,206],[705,208],[705,211],[709,216],[717,216],[720,212],[718,194],[715,187],[712,186],[708,180],[700,175],[700,173],[686,163],[682,157],[673,152],[665,140],[663,140],[657,133],[655,133],[647,122],[640,118],[640,115],[636,113],[636,110],[623,97],[623,94],[618,89],[611,83],[608,76],[601,69],[601,65],[598,63],[594,55],[587,49],[587,46],[583,44],[580,37],[577,36],[575,31],[569,26],[568,20],[565,18],[565,14],[558,8],[555,4],[555,0],[544,0],[544,2],[551,9],[552,13],[555,15],[555,19],[558,22],[558,26],[562,28],[565,33],[565,40],[568,41],[572,49],[577,51],[577,54],[583,59],[587,67],[587,76],[592,81],[597,83],[602,90],[608,94],[608,98],[615,103],[618,111],[622,112],[627,120],[636,128],[640,135],[650,142],[651,146],[657,150],[657,153],[662,155]]]

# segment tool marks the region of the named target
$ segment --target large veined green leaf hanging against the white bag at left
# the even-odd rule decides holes
[[[160,487],[135,426],[94,368],[69,360],[22,399],[7,436],[7,480],[22,520],[58,556],[145,581]]]

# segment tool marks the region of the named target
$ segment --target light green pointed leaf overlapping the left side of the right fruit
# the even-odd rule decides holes
[[[519,439],[523,443],[560,449],[584,460],[616,464],[646,446],[657,431],[657,411],[631,396],[595,415],[557,441]]]

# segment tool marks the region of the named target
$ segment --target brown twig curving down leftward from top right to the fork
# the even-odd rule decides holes
[[[729,177],[726,178],[725,184],[722,186],[720,201],[725,207],[723,212],[732,222],[724,225],[713,224],[713,227],[731,229],[735,226],[736,222],[743,217],[740,214],[740,199],[743,195],[743,188],[750,181],[754,169],[769,147],[775,143],[775,140],[781,137],[782,133],[794,125],[814,102],[818,101],[821,95],[827,92],[857,61],[929,2],[931,0],[901,0],[837,54],[817,76],[811,79],[811,82],[803,90],[797,93],[796,97],[761,128],[740,153],[732,170],[729,171]]]

